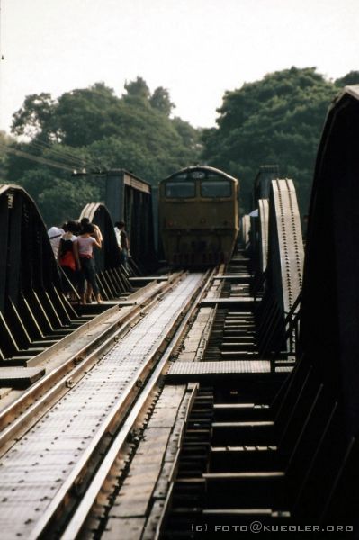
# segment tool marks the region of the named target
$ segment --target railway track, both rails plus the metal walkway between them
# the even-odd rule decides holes
[[[77,536],[210,277],[175,275],[146,302],[123,306],[100,336],[1,411],[6,540]]]

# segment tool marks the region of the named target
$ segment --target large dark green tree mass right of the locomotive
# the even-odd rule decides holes
[[[226,92],[218,128],[204,130],[203,157],[241,181],[241,204],[250,209],[253,180],[261,165],[279,165],[297,186],[307,211],[316,153],[328,105],[359,72],[329,82],[314,67],[292,67]]]

